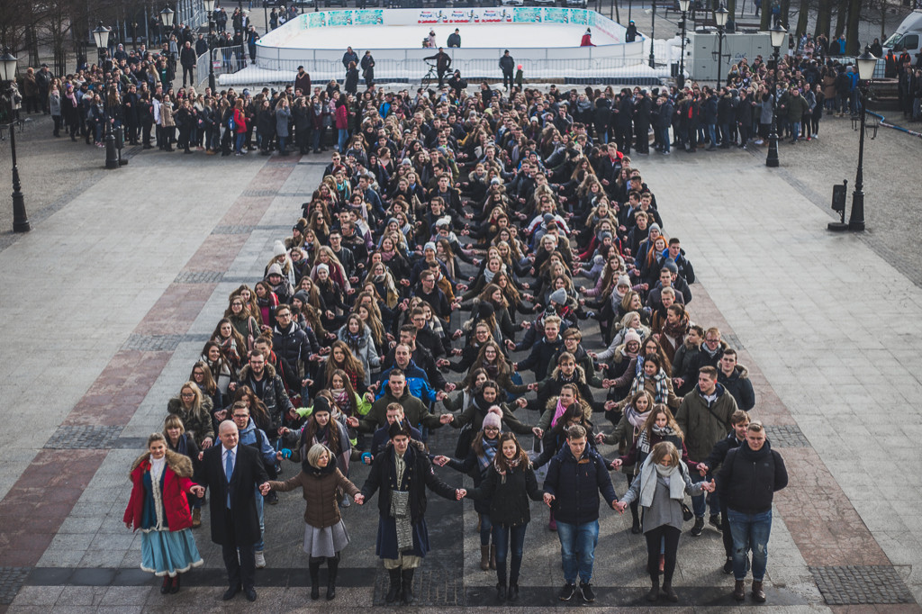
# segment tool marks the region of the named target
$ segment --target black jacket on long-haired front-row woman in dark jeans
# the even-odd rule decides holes
[[[478,488],[468,490],[467,497],[490,502],[493,525],[521,526],[531,521],[528,500],[541,501],[544,490],[538,489],[538,478],[531,466],[517,466],[501,476],[491,465],[486,478]]]

